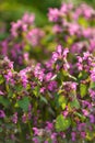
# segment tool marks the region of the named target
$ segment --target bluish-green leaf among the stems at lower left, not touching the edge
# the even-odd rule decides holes
[[[24,97],[22,100],[19,100],[17,105],[23,109],[23,111],[27,111],[29,106],[28,97]]]

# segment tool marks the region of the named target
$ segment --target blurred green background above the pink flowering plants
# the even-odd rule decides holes
[[[61,2],[86,2],[95,7],[95,0],[0,0],[0,40],[9,33],[10,22],[20,19],[26,11],[34,12],[36,25],[44,26],[48,23],[48,8],[58,8]]]

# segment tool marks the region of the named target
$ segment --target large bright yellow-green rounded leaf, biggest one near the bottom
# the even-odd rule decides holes
[[[57,117],[56,130],[58,132],[67,130],[71,124],[70,118],[64,119],[62,114]]]

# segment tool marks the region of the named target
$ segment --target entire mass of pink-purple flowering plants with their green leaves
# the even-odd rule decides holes
[[[94,143],[95,11],[63,3],[48,18],[25,13],[0,43],[0,142]]]

